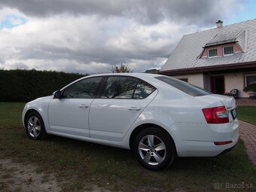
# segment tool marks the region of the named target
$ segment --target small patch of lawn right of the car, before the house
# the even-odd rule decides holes
[[[239,120],[256,125],[256,106],[238,106],[236,111]]]

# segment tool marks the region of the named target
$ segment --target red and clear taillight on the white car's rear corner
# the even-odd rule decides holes
[[[215,108],[203,108],[203,114],[207,123],[228,123],[228,114],[224,106]]]

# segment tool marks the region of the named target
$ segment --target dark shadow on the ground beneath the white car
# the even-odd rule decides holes
[[[92,157],[100,156],[104,159],[114,160],[129,166],[140,166],[136,156],[131,150],[114,148],[107,145],[99,145],[59,136],[48,136],[46,141],[56,142],[59,145],[62,145],[63,148],[81,151],[83,153],[90,154]],[[233,169],[234,166],[237,166],[237,163],[233,160],[243,158],[236,152],[235,148],[233,151],[230,151],[227,154],[221,154],[217,157],[177,157],[174,163],[172,163],[169,168],[164,169],[163,172],[194,172],[194,170],[197,170],[200,173],[206,173],[218,172],[223,169]]]

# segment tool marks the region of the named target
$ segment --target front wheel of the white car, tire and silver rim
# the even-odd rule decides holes
[[[34,111],[26,116],[25,120],[26,135],[30,139],[44,139],[47,136],[44,120],[41,115]]]

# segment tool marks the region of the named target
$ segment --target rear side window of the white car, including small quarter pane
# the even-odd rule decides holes
[[[155,88],[138,78],[108,77],[100,98],[103,99],[145,99]]]

